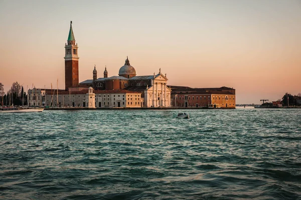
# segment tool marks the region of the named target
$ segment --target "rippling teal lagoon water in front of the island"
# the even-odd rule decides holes
[[[301,196],[301,109],[45,110],[0,120],[2,199]]]

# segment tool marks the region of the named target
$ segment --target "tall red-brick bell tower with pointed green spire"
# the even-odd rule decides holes
[[[75,44],[75,38],[72,30],[72,21],[70,21],[70,30],[67,43],[65,43],[65,89],[70,86],[78,85],[78,46]]]

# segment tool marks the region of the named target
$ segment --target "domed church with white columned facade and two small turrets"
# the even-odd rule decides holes
[[[123,66],[120,67],[118,76],[108,77],[105,67],[103,77],[97,78],[97,70],[94,66],[93,79],[80,82],[80,87],[93,86],[96,91],[103,90],[128,90],[128,92],[139,92],[143,99],[141,107],[170,107],[171,89],[167,86],[168,78],[161,73],[154,75],[136,75],[136,70],[130,65],[128,57]]]

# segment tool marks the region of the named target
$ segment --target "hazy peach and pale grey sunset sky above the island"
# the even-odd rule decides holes
[[[65,88],[70,21],[79,81],[167,73],[169,85],[233,87],[236,103],[301,92],[301,0],[0,0],[0,82]]]

